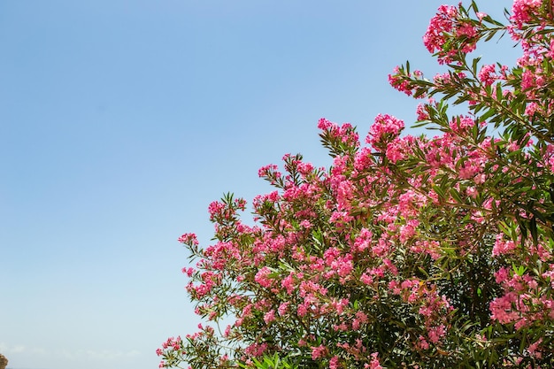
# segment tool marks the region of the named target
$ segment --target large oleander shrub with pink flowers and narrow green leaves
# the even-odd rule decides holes
[[[242,199],[210,204],[217,242],[183,234],[183,272],[196,313],[232,324],[170,338],[160,367],[554,367],[553,8],[516,0],[504,26],[441,6],[424,43],[448,72],[389,76],[441,135],[380,114],[362,145],[320,119],[333,165],[261,168],[275,190],[253,200],[255,226]],[[470,59],[498,32],[517,65]]]

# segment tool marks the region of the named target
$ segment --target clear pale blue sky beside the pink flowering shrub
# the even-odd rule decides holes
[[[285,153],[326,165],[321,117],[409,126],[387,75],[439,71],[421,36],[447,1],[0,1],[9,367],[157,368],[199,322],[177,237],[209,244],[208,204],[265,193],[258,168]]]

